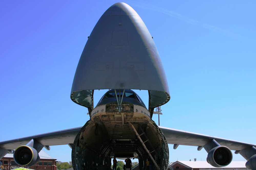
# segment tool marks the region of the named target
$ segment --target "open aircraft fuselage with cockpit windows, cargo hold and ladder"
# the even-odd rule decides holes
[[[104,164],[107,155],[129,156],[138,158],[140,169],[144,169],[148,151],[160,169],[167,168],[169,150],[166,139],[134,91],[109,90],[89,114],[91,119],[73,144],[72,161],[78,169],[96,162],[99,154],[103,156],[100,164]]]

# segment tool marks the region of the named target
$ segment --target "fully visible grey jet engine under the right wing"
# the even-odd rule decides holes
[[[214,167],[223,167],[230,164],[233,155],[231,150],[225,146],[212,148],[207,155],[207,162]]]

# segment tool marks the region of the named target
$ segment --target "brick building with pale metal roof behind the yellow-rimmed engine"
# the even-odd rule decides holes
[[[57,170],[57,159],[54,159],[43,150],[41,150],[38,154],[40,161],[36,165],[22,167],[36,170]],[[0,161],[2,162],[2,167],[0,167],[0,169],[11,170],[17,167],[21,167],[14,161],[12,153],[7,153]]]

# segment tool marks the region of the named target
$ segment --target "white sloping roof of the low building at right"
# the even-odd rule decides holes
[[[211,166],[207,161],[176,161],[172,164],[172,167],[175,168],[175,164],[181,163],[190,168],[216,168]],[[228,166],[222,168],[246,168],[244,161],[232,161]]]

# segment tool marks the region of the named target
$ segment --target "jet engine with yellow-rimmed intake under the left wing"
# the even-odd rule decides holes
[[[13,154],[14,161],[21,166],[31,166],[39,162],[40,157],[37,151],[30,146],[21,145]]]

